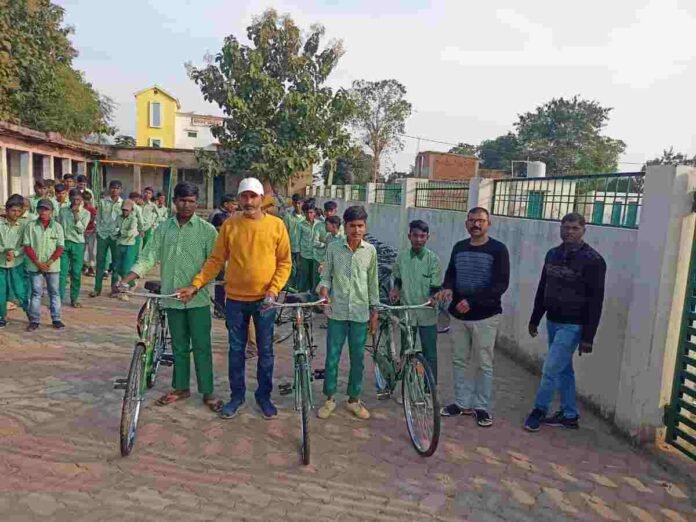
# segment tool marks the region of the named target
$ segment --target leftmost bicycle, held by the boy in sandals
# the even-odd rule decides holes
[[[160,295],[160,283],[148,281],[145,289],[149,293],[128,292],[136,297],[144,297],[145,304],[138,313],[136,329],[138,341],[131,357],[128,377],[116,379],[115,389],[125,390],[121,405],[120,446],[121,456],[130,455],[135,444],[140,409],[147,389],[155,385],[160,365],[171,366],[174,359],[166,354],[171,344],[167,314],[159,305],[162,299],[177,299],[178,294]]]

